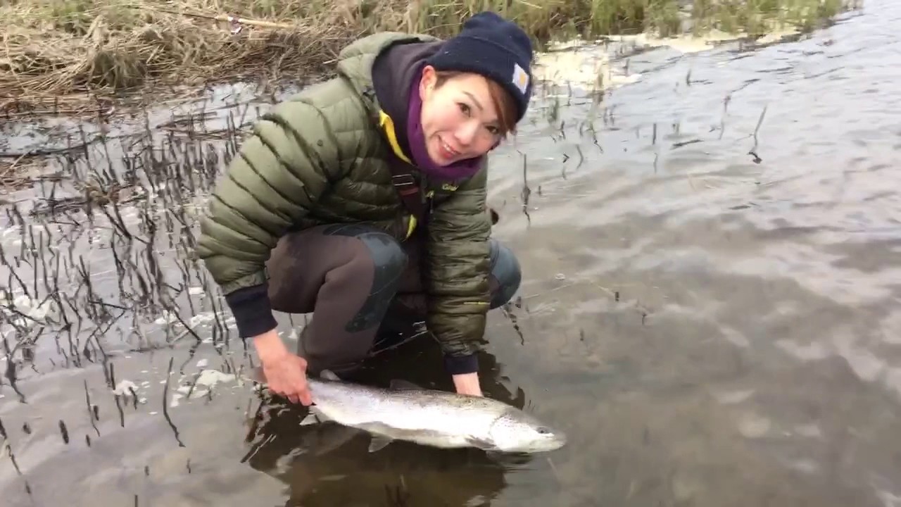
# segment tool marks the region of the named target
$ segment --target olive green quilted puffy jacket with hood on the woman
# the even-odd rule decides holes
[[[198,255],[224,294],[265,283],[270,250],[289,229],[357,222],[405,240],[410,218],[392,185],[394,154],[371,78],[378,53],[404,40],[437,41],[396,32],[355,41],[340,53],[338,77],[273,106],[254,125],[201,219]],[[459,188],[431,189],[426,325],[447,355],[470,355],[483,343],[491,228],[486,183],[487,162]]]

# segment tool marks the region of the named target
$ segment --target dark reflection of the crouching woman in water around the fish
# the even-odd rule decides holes
[[[522,389],[510,392],[496,357],[478,356],[485,395],[523,409]],[[387,386],[403,378],[452,390],[441,350],[424,336],[376,355],[352,381]],[[265,395],[248,440],[246,462],[287,484],[287,505],[490,505],[506,475],[531,456],[489,457],[474,448],[439,449],[395,441],[370,453],[369,436],[330,421],[300,426],[307,410]]]

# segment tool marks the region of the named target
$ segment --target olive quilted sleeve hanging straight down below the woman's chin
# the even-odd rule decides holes
[[[424,258],[426,325],[441,342],[449,373],[477,371],[489,309],[491,221],[487,163],[432,211]]]

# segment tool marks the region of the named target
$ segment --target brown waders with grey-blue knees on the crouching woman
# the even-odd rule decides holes
[[[414,236],[415,238],[416,236]],[[399,243],[368,226],[316,226],[283,236],[267,264],[272,309],[313,313],[297,353],[311,372],[353,369],[425,318],[421,243]],[[491,239],[491,308],[510,300],[521,272],[514,254]],[[379,338],[388,336],[385,339]]]

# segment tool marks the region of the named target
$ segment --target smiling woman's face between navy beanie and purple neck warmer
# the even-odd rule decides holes
[[[437,165],[480,157],[501,141],[500,124],[487,78],[467,73],[436,87],[432,66],[423,69],[419,95],[429,157]]]

